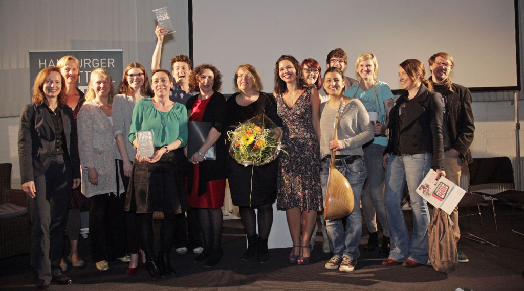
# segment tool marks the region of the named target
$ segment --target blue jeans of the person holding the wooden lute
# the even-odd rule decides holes
[[[325,203],[326,189],[328,188],[328,173],[329,173],[330,161],[322,163],[322,173],[320,174],[320,185],[322,187],[322,195]],[[362,158],[357,159],[353,164],[347,165],[343,161],[343,165],[336,167],[347,181],[350,182],[351,188],[353,189],[353,195],[355,197],[355,207],[353,212],[345,218],[346,229],[344,231],[344,225],[342,219],[326,220],[326,230],[328,231],[329,246],[331,252],[339,258],[344,255],[351,259],[358,259],[360,252],[358,246],[362,236],[362,216],[360,210],[362,188],[364,187],[364,181],[367,177],[366,165]]]

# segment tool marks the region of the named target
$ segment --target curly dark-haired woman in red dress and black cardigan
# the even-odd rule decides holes
[[[193,261],[205,262],[211,267],[220,262],[222,248],[222,205],[224,204],[227,166],[225,163],[226,100],[218,91],[222,85],[222,74],[209,64],[202,64],[193,69],[189,85],[200,94],[188,99],[189,122],[208,122],[211,124],[204,143],[194,154],[189,153],[189,146],[184,148],[185,155],[193,164],[188,173],[189,206],[198,208],[200,224],[204,235],[204,250]],[[203,124],[203,123],[202,123]],[[191,124],[190,124],[191,125]],[[193,123],[192,125],[196,125]],[[206,160],[205,154],[214,146],[215,159]],[[213,149],[212,149],[213,150]]]

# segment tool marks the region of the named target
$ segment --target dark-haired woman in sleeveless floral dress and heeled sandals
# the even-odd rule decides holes
[[[275,64],[278,115],[283,121],[282,144],[289,154],[280,158],[277,207],[286,209],[293,248],[289,262],[309,263],[311,233],[323,210],[320,188],[320,96],[308,87],[300,64],[282,55]]]

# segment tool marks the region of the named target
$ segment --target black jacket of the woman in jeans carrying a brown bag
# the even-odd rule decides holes
[[[406,91],[397,99],[393,109],[389,112],[388,128],[389,141],[384,154],[391,153],[393,143],[397,143],[395,136],[399,136],[402,154],[432,153],[431,168],[444,169],[444,143],[442,137],[442,117],[444,106],[442,96],[428,90],[424,84],[420,86],[412,102],[408,102],[406,115],[400,127],[400,132],[395,132],[398,126],[399,108],[408,99]],[[393,138],[392,138],[393,137]]]

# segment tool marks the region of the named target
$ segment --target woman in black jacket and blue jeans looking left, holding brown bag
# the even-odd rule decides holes
[[[419,60],[409,59],[400,64],[399,80],[406,92],[389,113],[389,142],[383,158],[384,199],[391,231],[391,251],[383,265],[402,263],[414,267],[429,262],[428,205],[415,190],[430,169],[438,176],[445,176],[445,172],[442,96],[431,91],[424,75],[425,68]],[[411,240],[400,205],[406,184],[413,212]]]

